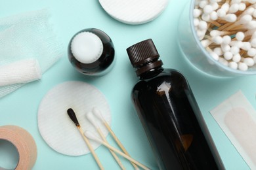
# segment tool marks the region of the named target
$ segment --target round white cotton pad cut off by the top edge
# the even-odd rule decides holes
[[[157,18],[168,0],[99,0],[102,8],[125,24],[144,24]]]

